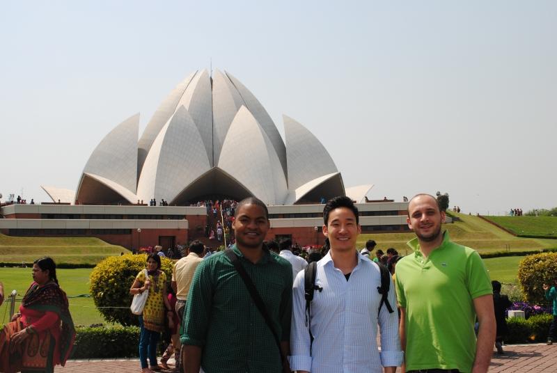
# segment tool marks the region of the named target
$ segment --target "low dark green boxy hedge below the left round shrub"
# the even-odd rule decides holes
[[[71,358],[135,358],[138,345],[137,326],[78,327]]]

